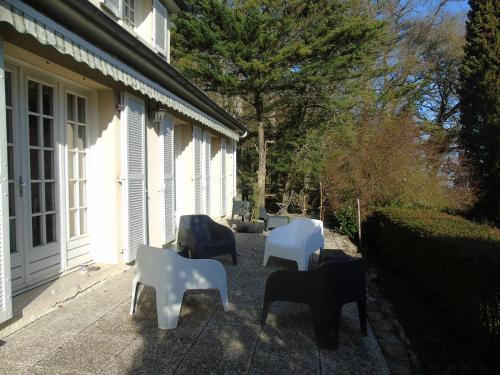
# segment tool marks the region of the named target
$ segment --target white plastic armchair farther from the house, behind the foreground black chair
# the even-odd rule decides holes
[[[267,236],[264,262],[270,256],[297,262],[299,271],[307,271],[311,255],[324,246],[323,222],[295,219],[290,224],[273,229]]]

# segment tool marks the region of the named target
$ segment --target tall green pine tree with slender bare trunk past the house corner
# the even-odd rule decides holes
[[[174,20],[173,63],[206,91],[237,97],[250,108],[247,124],[250,136],[257,137],[259,157],[255,195],[264,206],[266,135],[277,125],[283,93],[304,95],[311,87],[359,75],[376,54],[383,22],[361,0],[192,0],[190,5],[192,13]]]

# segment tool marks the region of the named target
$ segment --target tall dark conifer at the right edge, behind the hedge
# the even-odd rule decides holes
[[[461,68],[461,141],[482,191],[480,216],[500,225],[500,3],[471,0]]]

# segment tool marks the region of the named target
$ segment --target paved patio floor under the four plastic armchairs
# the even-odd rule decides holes
[[[325,234],[326,247],[352,251]],[[129,316],[132,270],[102,283],[0,341],[0,373],[29,374],[388,374],[371,328],[364,337],[354,304],[344,307],[339,349],[314,342],[307,305],[274,303],[259,324],[267,276],[295,263],[262,266],[265,236],[237,234],[238,265],[226,267],[230,311],[215,291],[189,292],[178,327],[157,328],[155,297],[145,288]]]

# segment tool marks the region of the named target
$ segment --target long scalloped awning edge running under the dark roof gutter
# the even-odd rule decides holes
[[[239,139],[235,131],[19,0],[0,0],[0,22],[9,23],[18,32],[32,35],[43,45],[52,46],[60,53],[70,55],[76,61],[99,70],[115,81],[216,132],[235,140]]]

